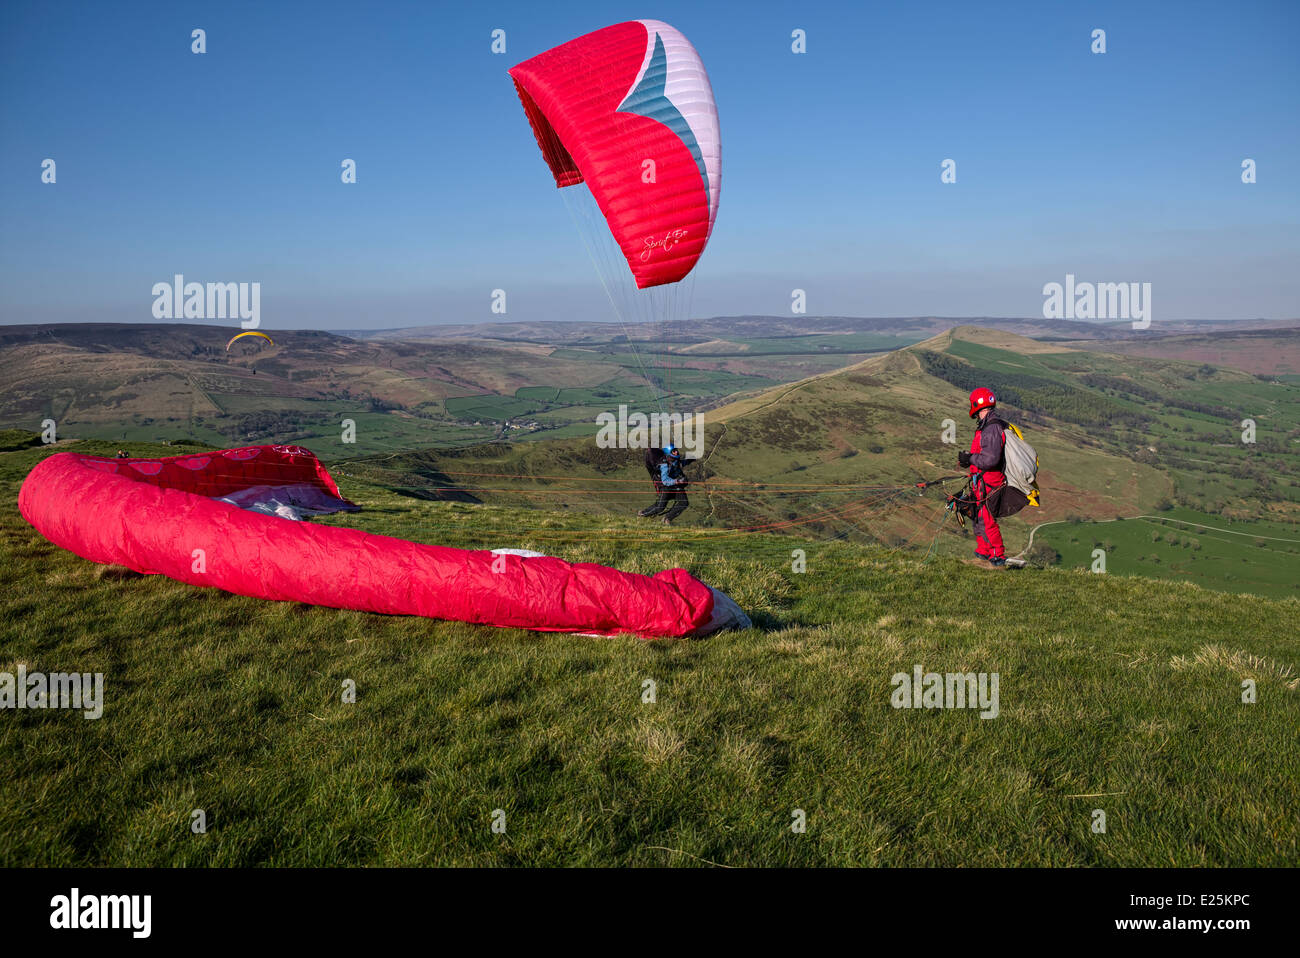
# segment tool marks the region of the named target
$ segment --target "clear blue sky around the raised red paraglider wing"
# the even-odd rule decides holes
[[[177,272],[261,282],[268,329],[612,318],[506,70],[641,17],[722,120],[696,315],[1034,316],[1066,273],[1152,282],[1157,321],[1300,315],[1292,0],[6,0],[0,322],[150,321]]]

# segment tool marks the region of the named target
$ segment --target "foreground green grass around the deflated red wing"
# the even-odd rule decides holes
[[[1295,599],[710,538],[580,506],[422,503],[344,477],[367,511],[330,523],[682,565],[758,625],[642,642],[385,617],[118,577],[58,550],[14,506],[47,452],[0,454],[0,671],[100,671],[107,705],[98,721],[0,714],[0,866],[1286,866],[1300,853]],[[890,708],[890,676],[914,664],[997,672],[1000,716]],[[346,679],[355,705],[339,701]],[[1243,679],[1257,705],[1240,703]],[[207,835],[191,833],[194,809]]]

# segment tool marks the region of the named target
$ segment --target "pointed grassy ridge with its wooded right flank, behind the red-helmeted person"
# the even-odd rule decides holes
[[[710,530],[849,537],[918,552],[967,555],[968,530],[942,520],[942,495],[894,495],[919,480],[954,474],[970,442],[966,396],[976,383],[1002,396],[1004,415],[1037,448],[1043,506],[1008,520],[1011,552],[1030,545],[1039,564],[1091,568],[1109,542],[1109,572],[1188,576],[1210,588],[1290,595],[1300,582],[1296,526],[1300,389],[1204,364],[1066,350],[1001,330],[961,326],[913,347],[870,357],[706,413],[693,507],[682,523]],[[1231,406],[1230,406],[1231,403]],[[1253,409],[1256,442],[1240,435]],[[593,417],[594,419],[594,417]],[[957,442],[944,442],[945,420]],[[341,468],[424,498],[542,510],[630,515],[649,502],[640,454],[599,450],[585,434],[541,445],[498,443],[360,458]],[[446,490],[446,491],[439,491]],[[885,490],[885,491],[883,491]],[[888,498],[888,502],[883,499]],[[1066,524],[1165,515],[1178,507],[1209,526],[1201,549],[1161,555],[1124,533]],[[1218,533],[1254,520],[1249,538]],[[1145,524],[1141,536],[1152,534]],[[1084,542],[1087,539],[1087,542]],[[1083,549],[1088,545],[1088,549]],[[1178,546],[1180,550],[1182,546]]]

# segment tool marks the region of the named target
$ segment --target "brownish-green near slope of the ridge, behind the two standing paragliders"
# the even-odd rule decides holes
[[[957,472],[957,442],[968,442],[963,409],[965,393],[927,376],[911,351],[723,406],[706,415],[701,461],[690,467],[697,484],[688,520],[714,530],[780,525],[926,545],[941,516],[941,497],[910,497],[881,508],[879,490]],[[942,421],[954,415],[957,442],[949,445]],[[1034,441],[1048,464],[1044,486],[1053,490],[1034,521],[1065,519],[1080,507],[1136,512],[1171,491],[1167,478],[1149,465],[1100,448],[1080,452],[1084,430],[1069,424],[1043,430]],[[342,468],[411,494],[472,487],[485,502],[511,506],[550,502],[628,513],[647,494],[636,452],[598,450],[590,430],[536,448],[361,458]],[[1028,525],[1011,520],[1009,534],[1027,542]],[[945,532],[939,545],[968,551],[968,538],[956,525],[952,538]]]

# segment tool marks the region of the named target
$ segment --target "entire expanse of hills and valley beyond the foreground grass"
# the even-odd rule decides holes
[[[295,333],[280,334],[269,350],[239,344],[244,352],[229,359],[208,355],[203,328],[86,326],[8,333],[0,359],[26,377],[3,395],[43,396],[48,409],[32,407],[26,419],[55,416],[65,437],[81,434],[77,416],[91,409],[108,419],[87,434],[114,442],[159,438],[160,430],[212,445],[302,442],[326,460],[348,460],[342,468],[358,478],[417,499],[610,516],[647,504],[647,484],[636,451],[595,447],[595,417],[620,404],[653,411],[663,396],[666,408],[702,409],[708,422],[702,461],[690,468],[690,526],[849,537],[953,556],[968,555],[972,542],[968,529],[940,521],[941,493],[889,490],[957,472],[956,452],[970,441],[966,394],[988,385],[1043,463],[1043,507],[1005,523],[1013,554],[1041,525],[1040,562],[1087,567],[1089,542],[1121,534],[1117,573],[1193,576],[1271,595],[1300,581],[1291,552],[1269,551],[1264,538],[1236,546],[1242,537],[1214,532],[1258,521],[1278,524],[1278,539],[1300,538],[1300,386],[1209,364],[1067,348],[1009,329],[959,326],[900,351],[855,352],[906,341],[927,322],[854,330],[819,320],[794,335],[758,320],[705,321],[694,335],[642,342],[638,351],[627,337],[601,339],[581,324],[556,328],[563,347],[523,339],[356,343]],[[27,368],[23,356],[46,365]],[[90,365],[65,364],[69,357]],[[121,419],[131,403],[166,408],[143,380],[109,389],[109,372],[124,363],[195,367],[186,382],[198,391],[182,395],[191,409],[220,412],[169,416],[166,425],[139,411]],[[86,377],[94,369],[99,385],[61,385],[60,376],[75,380],[78,369]],[[774,385],[786,377],[800,378]],[[434,389],[441,398],[428,393]],[[129,399],[121,390],[139,393]],[[55,408],[56,400],[66,404]],[[343,420],[355,424],[356,442],[343,441]],[[1254,424],[1251,443],[1242,441],[1247,420]],[[1175,506],[1213,533],[1187,562],[1158,543],[1138,550],[1130,542],[1138,533],[1127,529],[1062,538],[1065,520],[1112,523]]]

